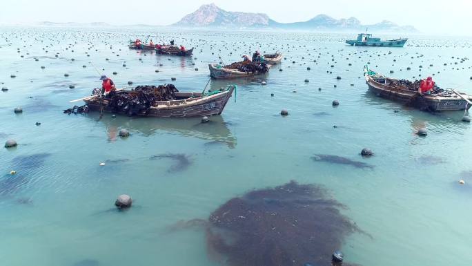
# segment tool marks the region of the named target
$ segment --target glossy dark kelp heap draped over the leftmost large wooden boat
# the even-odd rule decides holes
[[[111,96],[108,106],[114,113],[147,114],[156,101],[172,101],[177,88],[173,84],[137,86],[134,91],[119,91]]]

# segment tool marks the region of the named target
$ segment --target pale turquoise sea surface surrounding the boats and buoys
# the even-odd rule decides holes
[[[147,35],[195,53],[128,49],[130,39]],[[348,262],[472,265],[472,129],[461,121],[464,111],[406,108],[369,93],[362,75],[369,64],[397,78],[434,75],[443,88],[472,93],[472,39],[411,36],[404,48],[346,46],[352,38],[0,28],[0,86],[8,88],[0,92],[0,143],[19,144],[0,149],[0,265],[220,265],[208,256],[205,229],[174,225],[206,220],[231,198],[291,180],[326,189],[362,229],[340,247]],[[81,105],[70,100],[101,86],[102,74],[117,87],[173,83],[200,92],[208,64],[230,64],[254,50],[286,59],[266,76],[210,81],[207,90],[236,84],[237,91],[209,123],[63,114]],[[23,113],[13,112],[18,106]],[[289,114],[281,116],[282,109]],[[426,137],[415,135],[422,127]],[[119,137],[120,129],[130,137]],[[362,158],[363,148],[375,155]],[[114,207],[122,193],[134,200],[128,211]]]

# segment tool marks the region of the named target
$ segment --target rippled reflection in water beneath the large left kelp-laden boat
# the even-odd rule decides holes
[[[119,135],[120,129],[128,131],[138,131],[142,135],[152,136],[159,133],[179,134],[186,137],[197,137],[212,143],[221,143],[234,149],[237,140],[233,136],[221,115],[210,117],[210,121],[201,122],[200,117],[188,118],[152,118],[152,117],[128,117],[117,115],[115,118],[110,114],[105,114],[101,119],[99,113],[89,113],[87,117],[96,120],[99,124],[104,124],[108,140],[114,141]]]

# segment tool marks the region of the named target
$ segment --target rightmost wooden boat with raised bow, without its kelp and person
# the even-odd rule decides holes
[[[462,111],[471,108],[472,96],[447,90],[449,93],[440,95],[424,95],[419,97],[417,91],[410,91],[405,86],[398,85],[398,79],[384,77],[364,66],[364,77],[368,88],[375,95],[391,99],[402,104],[409,104],[415,108],[426,108],[429,111]],[[423,100],[424,99],[424,100]]]

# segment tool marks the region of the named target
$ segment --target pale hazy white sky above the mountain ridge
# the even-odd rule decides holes
[[[278,22],[306,21],[324,13],[362,23],[384,19],[422,32],[471,35],[472,0],[1,0],[0,24],[53,22],[168,25],[204,3],[228,11],[264,12]]]

